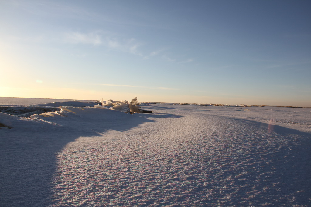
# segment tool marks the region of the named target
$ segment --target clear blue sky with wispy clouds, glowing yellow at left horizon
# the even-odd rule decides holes
[[[0,0],[0,97],[311,107],[309,0]]]

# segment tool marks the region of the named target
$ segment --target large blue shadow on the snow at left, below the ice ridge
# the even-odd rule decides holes
[[[101,111],[100,109],[99,111]],[[104,136],[107,130],[126,132],[144,122],[153,122],[152,114],[125,114],[103,110],[107,119],[67,119],[57,122],[29,120],[25,128],[0,129],[0,206],[46,206],[53,196],[53,178],[57,169],[56,154],[77,138]],[[178,116],[160,114],[161,118]],[[16,118],[19,119],[19,118]],[[29,124],[31,122],[31,124]],[[4,133],[3,133],[4,132]],[[2,136],[4,135],[4,136]]]

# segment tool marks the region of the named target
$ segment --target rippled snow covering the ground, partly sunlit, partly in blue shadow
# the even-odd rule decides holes
[[[0,113],[0,206],[310,206],[310,108],[74,103]]]

